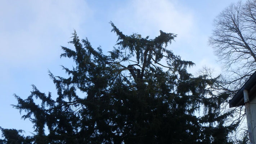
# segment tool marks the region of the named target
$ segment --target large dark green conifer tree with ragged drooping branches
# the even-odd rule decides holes
[[[34,124],[32,143],[229,144],[233,127],[224,125],[229,113],[220,112],[223,99],[210,89],[217,78],[187,72],[194,63],[166,48],[176,35],[160,31],[155,39],[127,36],[111,25],[118,40],[109,55],[92,48],[87,39],[80,41],[76,32],[69,42],[75,49],[62,47],[61,57],[72,58],[76,65],[63,66],[67,78],[49,72],[57,89],[55,100],[35,86],[27,99],[15,96],[14,107]]]

